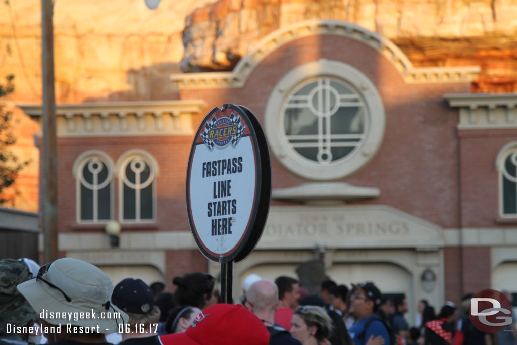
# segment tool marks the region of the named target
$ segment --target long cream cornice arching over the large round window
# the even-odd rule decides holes
[[[312,20],[279,29],[258,42],[231,72],[177,73],[171,80],[181,89],[242,87],[251,71],[272,51],[295,39],[314,35],[338,35],[368,44],[390,61],[406,83],[470,82],[479,66],[414,67],[407,56],[387,38],[356,24],[336,20]]]

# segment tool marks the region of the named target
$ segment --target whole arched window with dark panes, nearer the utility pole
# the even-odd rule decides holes
[[[113,161],[100,151],[87,151],[72,168],[78,223],[101,223],[113,218]]]

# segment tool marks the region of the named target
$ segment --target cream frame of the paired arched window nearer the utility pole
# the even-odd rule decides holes
[[[108,177],[107,181],[110,184],[110,219],[98,219],[98,205],[97,205],[97,198],[96,198],[96,191],[98,189],[101,189],[100,187],[95,187],[93,190],[94,192],[94,198],[93,198],[93,212],[94,216],[92,220],[83,220],[81,219],[81,187],[82,187],[82,172],[84,169],[85,164],[90,160],[90,158],[98,158],[102,161],[102,163],[108,168]],[[114,215],[114,191],[113,191],[113,185],[114,185],[114,164],[111,157],[100,150],[88,150],[83,152],[79,157],[77,157],[73,163],[72,166],[72,176],[75,178],[75,221],[78,224],[105,224],[109,222],[111,219],[113,219]],[[102,188],[104,188],[103,186]]]

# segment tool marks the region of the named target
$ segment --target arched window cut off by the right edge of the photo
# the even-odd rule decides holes
[[[496,159],[499,209],[502,217],[517,217],[517,143],[503,147]]]

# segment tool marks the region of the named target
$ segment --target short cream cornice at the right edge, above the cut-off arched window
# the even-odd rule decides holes
[[[458,129],[517,128],[517,94],[449,94],[451,107],[460,108]]]

